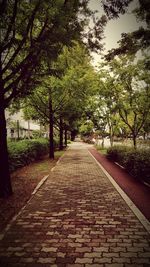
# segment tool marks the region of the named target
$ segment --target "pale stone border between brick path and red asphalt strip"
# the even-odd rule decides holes
[[[150,222],[146,219],[146,217],[142,214],[142,212],[136,207],[136,205],[132,202],[132,200],[127,196],[127,194],[120,188],[120,186],[115,182],[115,180],[112,178],[112,176],[104,169],[104,167],[96,160],[96,158],[91,154],[91,152],[88,150],[89,154],[92,156],[92,158],[96,161],[97,165],[102,169],[106,177],[109,179],[109,181],[112,183],[112,185],[115,187],[115,189],[118,191],[118,193],[121,195],[121,197],[124,199],[124,201],[127,203],[129,208],[132,210],[132,212],[136,215],[136,217],[139,219],[141,224],[144,226],[144,228],[147,230],[147,232],[150,234]]]

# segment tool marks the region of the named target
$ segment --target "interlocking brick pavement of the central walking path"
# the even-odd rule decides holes
[[[0,241],[2,267],[150,266],[150,236],[74,144]]]

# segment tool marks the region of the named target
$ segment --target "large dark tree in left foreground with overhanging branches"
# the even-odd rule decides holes
[[[80,40],[93,13],[85,1],[2,0],[0,3],[0,197],[12,194],[5,109],[35,88],[41,57],[57,58],[63,44]],[[93,34],[84,33],[88,47],[98,49],[104,17],[96,20]],[[98,33],[98,34],[97,34]],[[97,34],[97,36],[96,36]],[[90,37],[91,36],[91,37]],[[95,37],[95,38],[94,38]],[[46,53],[45,53],[46,51]],[[39,73],[40,71],[40,73]],[[53,70],[48,69],[50,74]]]

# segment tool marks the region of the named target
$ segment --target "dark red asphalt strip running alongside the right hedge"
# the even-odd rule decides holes
[[[147,220],[150,221],[150,187],[142,184],[140,181],[137,181],[124,169],[108,160],[106,156],[100,154],[95,148],[90,148],[89,151],[113,177],[116,183],[133,201]]]

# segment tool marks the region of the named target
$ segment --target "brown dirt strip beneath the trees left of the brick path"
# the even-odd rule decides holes
[[[30,199],[37,184],[50,173],[61,155],[62,152],[58,151],[55,160],[50,160],[46,156],[43,160],[31,163],[12,173],[13,195],[8,199],[0,199],[0,232]]]

